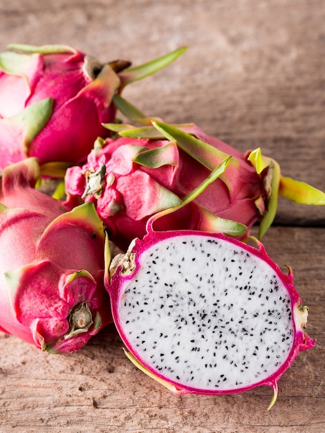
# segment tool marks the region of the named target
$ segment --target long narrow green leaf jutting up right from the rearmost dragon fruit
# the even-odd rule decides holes
[[[133,81],[142,80],[142,78],[152,75],[160,71],[160,69],[165,68],[165,66],[171,62],[174,62],[174,60],[182,55],[185,50],[187,50],[187,47],[181,47],[172,51],[171,53],[158,57],[157,59],[151,60],[150,62],[140,66],[124,69],[122,73],[118,74],[122,82],[122,88]]]

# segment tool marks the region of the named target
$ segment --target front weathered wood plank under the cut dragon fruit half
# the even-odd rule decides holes
[[[138,371],[122,353],[113,326],[81,351],[48,355],[0,335],[0,432],[319,433],[325,429],[325,230],[272,228],[265,245],[290,264],[310,306],[314,349],[301,352],[272,389],[231,396],[173,396]]]

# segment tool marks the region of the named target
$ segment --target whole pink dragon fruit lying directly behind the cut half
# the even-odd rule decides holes
[[[298,203],[325,204],[323,192],[281,176],[277,162],[262,156],[261,149],[242,154],[196,125],[152,123],[140,128],[106,125],[121,137],[97,140],[87,163],[66,172],[66,192],[93,202],[110,238],[124,250],[133,238],[145,235],[151,215],[180,203],[227,155],[232,159],[226,172],[195,201],[157,221],[159,230],[243,237],[261,220],[262,237],[275,217],[278,194]],[[226,231],[224,219],[247,230]]]

